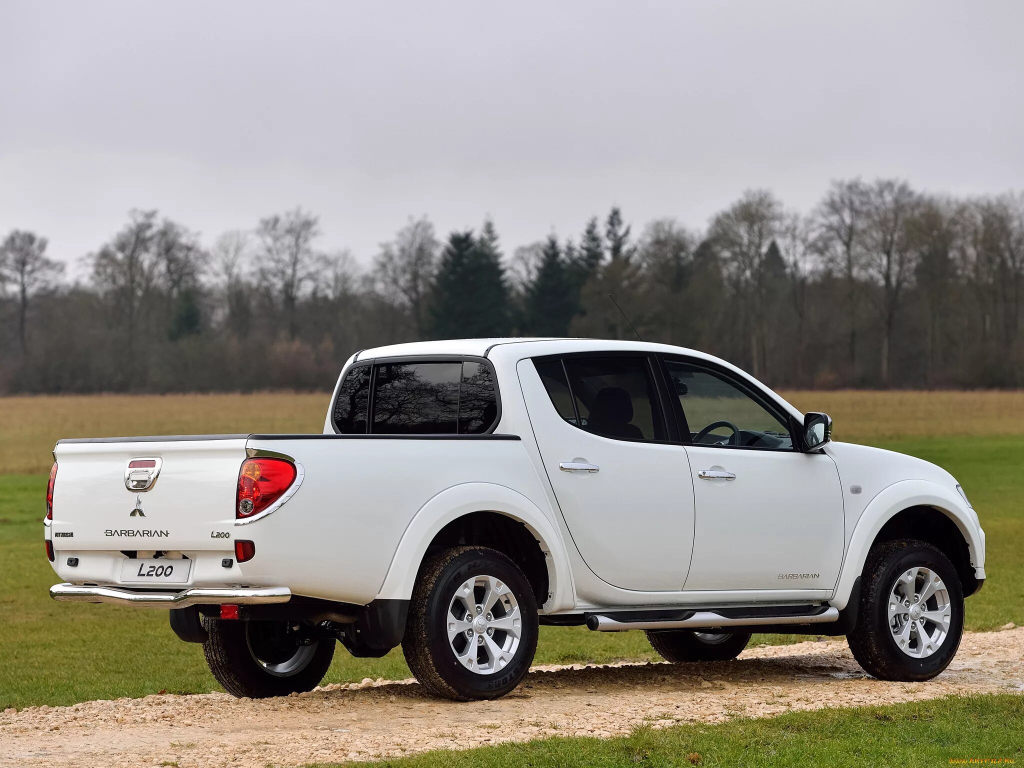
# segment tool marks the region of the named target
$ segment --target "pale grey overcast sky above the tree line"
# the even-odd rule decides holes
[[[301,205],[364,263],[409,215],[506,252],[744,188],[1024,188],[1024,3],[0,0],[0,233],[95,250]]]

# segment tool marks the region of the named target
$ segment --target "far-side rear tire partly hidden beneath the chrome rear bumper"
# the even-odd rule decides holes
[[[232,696],[266,698],[315,688],[334,657],[334,638],[301,644],[287,622],[204,618],[206,663]],[[290,655],[291,653],[291,655]]]

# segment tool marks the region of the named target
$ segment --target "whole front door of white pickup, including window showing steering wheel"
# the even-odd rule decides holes
[[[845,535],[836,463],[795,447],[787,415],[752,383],[696,360],[666,366],[696,502],[685,590],[831,590]]]

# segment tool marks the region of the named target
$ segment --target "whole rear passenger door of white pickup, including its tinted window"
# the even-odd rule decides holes
[[[587,566],[615,587],[679,591],[693,545],[693,484],[668,441],[656,360],[543,358],[519,379],[544,467]]]

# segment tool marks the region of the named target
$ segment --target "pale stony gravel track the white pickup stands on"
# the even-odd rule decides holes
[[[928,683],[864,676],[846,642],[751,648],[713,665],[542,667],[498,701],[453,703],[411,681],[287,698],[153,695],[0,715],[0,766],[294,766],[545,735],[609,736],[641,723],[1024,690],[1024,628],[969,633]]]

